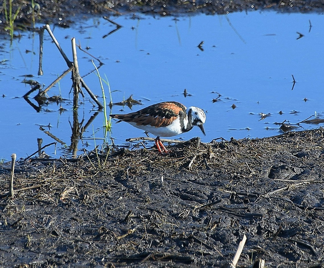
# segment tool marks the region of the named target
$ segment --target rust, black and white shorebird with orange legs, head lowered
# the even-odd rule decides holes
[[[198,107],[186,108],[176,101],[166,101],[147,106],[129,114],[111,114],[111,118],[131,124],[156,136],[155,144],[160,153],[167,153],[160,137],[172,137],[188,132],[198,126],[206,135],[203,124],[206,121],[204,111]]]

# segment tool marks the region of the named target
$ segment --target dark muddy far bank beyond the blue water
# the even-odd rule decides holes
[[[13,1],[12,14],[15,29],[31,29],[36,23],[54,23],[60,27],[70,27],[75,20],[91,16],[131,15],[134,18],[141,14],[152,16],[187,16],[195,14],[228,14],[237,11],[274,10],[278,12],[323,12],[324,2],[320,0],[92,0],[92,1]],[[0,34],[8,32],[9,4],[7,17],[4,5],[0,12]]]

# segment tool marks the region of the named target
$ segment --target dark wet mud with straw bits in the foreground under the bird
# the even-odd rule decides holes
[[[323,267],[323,135],[2,165],[0,267]]]

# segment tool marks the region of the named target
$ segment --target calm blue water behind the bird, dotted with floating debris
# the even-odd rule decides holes
[[[69,59],[72,60],[72,37],[80,42],[82,48],[89,47],[87,51],[100,58],[104,65],[99,72],[109,80],[113,102],[133,95],[144,106],[173,100],[207,111],[205,137],[195,127],[174,138],[187,140],[201,136],[203,142],[219,137],[261,138],[282,133],[279,126],[273,124],[275,122],[287,120],[297,123],[309,116],[323,118],[324,16],[321,14],[249,12],[176,19],[142,15],[135,19],[127,16],[110,19],[122,28],[106,38],[103,36],[115,26],[102,18],[79,21],[68,29],[51,28]],[[310,32],[309,20],[312,25]],[[305,36],[297,40],[299,35],[296,32]],[[0,159],[10,159],[14,152],[18,157],[26,157],[37,151],[37,138],[43,139],[43,145],[53,142],[40,130],[40,125],[49,124],[51,127],[44,127],[45,130],[66,145],[59,145],[56,151],[51,146],[45,152],[52,157],[69,156],[62,149],[71,144],[69,120],[73,120],[73,96],[69,95],[70,74],[48,92],[49,96],[62,95],[69,99],[62,103],[67,110],[62,114],[60,105],[56,103],[43,106],[37,113],[21,98],[30,89],[28,84],[21,83],[24,80],[22,75],[32,74],[32,79],[47,87],[67,69],[46,31],[44,36],[43,76],[37,75],[39,38],[36,33],[22,33],[22,37],[14,39],[11,46],[9,40],[2,42]],[[197,47],[201,41],[204,41],[204,51]],[[26,50],[32,52],[26,53]],[[78,50],[81,75],[93,69],[90,59]],[[293,90],[292,74],[296,80]],[[96,73],[84,80],[102,102]],[[106,84],[104,87],[109,103],[108,87]],[[182,94],[184,89],[192,96],[185,98]],[[86,97],[81,98],[78,114],[79,121],[84,119],[85,124],[96,107],[84,92]],[[221,95],[219,101],[213,102],[218,96],[213,92]],[[233,104],[237,106],[235,109],[231,107]],[[133,106],[133,110],[144,106]],[[127,106],[112,108],[112,113],[129,111]],[[283,114],[280,115],[279,111]],[[260,120],[260,113],[271,116]],[[94,136],[98,139],[96,145],[102,143],[103,123],[104,116],[100,112],[83,134],[78,154],[83,152],[83,146],[88,150],[94,148]],[[301,127],[318,126],[302,124]],[[143,132],[127,123],[119,123],[112,125],[110,135],[116,144],[124,144],[125,139],[143,136]]]

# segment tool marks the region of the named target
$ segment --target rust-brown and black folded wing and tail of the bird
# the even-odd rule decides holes
[[[125,115],[110,115],[124,122],[133,122],[139,126],[167,127],[179,115],[186,115],[186,107],[178,102],[161,102]]]

